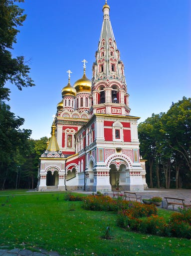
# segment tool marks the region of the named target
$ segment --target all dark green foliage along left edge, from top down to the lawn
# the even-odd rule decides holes
[[[4,85],[7,81],[22,87],[34,86],[29,77],[30,68],[23,56],[13,58],[10,49],[16,43],[18,27],[22,26],[26,15],[15,5],[23,0],[0,1],[0,188],[12,188],[22,183],[21,165],[28,154],[30,130],[20,129],[24,119],[15,117],[4,100],[9,100],[10,90]],[[33,182],[32,182],[33,183]]]

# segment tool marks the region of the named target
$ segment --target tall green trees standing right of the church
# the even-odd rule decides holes
[[[191,181],[191,98],[173,103],[138,125],[150,187],[186,187]]]

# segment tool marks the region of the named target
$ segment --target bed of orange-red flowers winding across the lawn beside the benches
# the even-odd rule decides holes
[[[191,238],[191,209],[182,209],[171,215],[168,222],[157,215],[154,204],[142,204],[109,196],[87,196],[83,208],[88,210],[117,211],[117,224],[123,228],[162,236]]]

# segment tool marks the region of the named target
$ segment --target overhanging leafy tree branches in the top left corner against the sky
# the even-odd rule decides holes
[[[0,100],[9,99],[9,89],[4,88],[7,81],[15,84],[19,90],[22,87],[34,86],[28,73],[30,68],[26,65],[23,56],[12,58],[10,49],[16,43],[18,26],[22,26],[26,15],[23,9],[14,5],[14,2],[24,0],[0,0]]]

